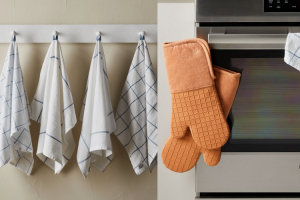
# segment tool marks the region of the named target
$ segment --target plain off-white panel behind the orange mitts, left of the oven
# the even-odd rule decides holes
[[[171,95],[161,44],[194,37],[193,3],[158,4],[158,160],[170,135]],[[161,95],[163,94],[163,95]],[[195,169],[185,173],[168,170],[162,162],[158,163],[158,199],[192,200],[195,199]]]

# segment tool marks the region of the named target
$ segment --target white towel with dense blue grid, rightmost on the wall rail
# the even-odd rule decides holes
[[[119,101],[115,131],[138,175],[147,168],[151,172],[157,164],[156,87],[147,44],[141,36]]]

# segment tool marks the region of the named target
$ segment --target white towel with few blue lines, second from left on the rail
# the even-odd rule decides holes
[[[55,36],[31,106],[31,119],[41,123],[37,156],[57,174],[74,152],[71,129],[77,121],[60,43]]]

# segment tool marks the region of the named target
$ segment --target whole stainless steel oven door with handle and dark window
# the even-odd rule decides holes
[[[205,35],[206,28],[198,29],[197,36]],[[197,163],[196,199],[300,199],[300,71],[284,62],[287,35],[207,36],[213,64],[242,76],[220,163],[210,167],[202,157]]]

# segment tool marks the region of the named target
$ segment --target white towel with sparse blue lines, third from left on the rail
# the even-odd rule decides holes
[[[91,61],[80,119],[82,130],[77,162],[84,178],[87,178],[90,164],[103,171],[112,160],[110,134],[116,130],[105,56],[99,36]]]

